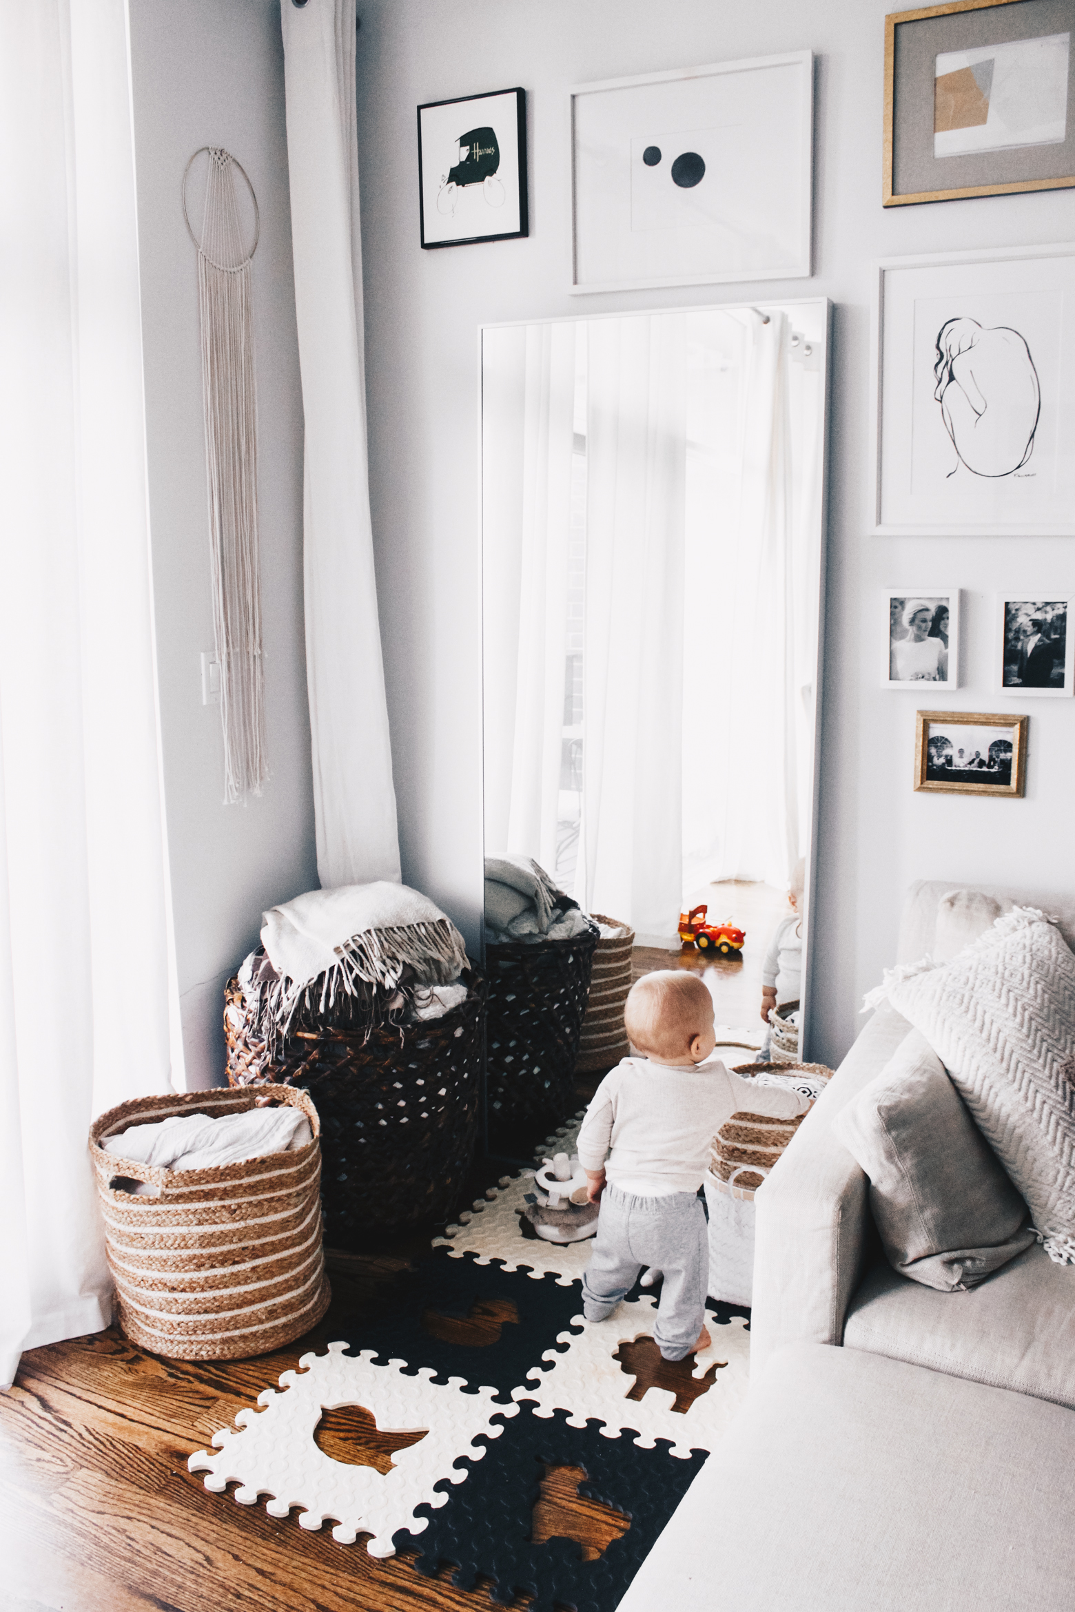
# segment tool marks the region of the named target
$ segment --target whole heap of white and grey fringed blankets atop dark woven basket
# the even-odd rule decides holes
[[[342,1019],[366,1033],[395,1024],[416,990],[450,985],[467,966],[451,919],[417,890],[385,880],[311,890],[271,908],[261,943],[264,954],[247,959],[239,982],[271,1046],[300,1009],[306,1022]]]

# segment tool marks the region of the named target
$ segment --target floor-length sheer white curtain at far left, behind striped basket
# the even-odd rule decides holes
[[[3,0],[0,1385],[111,1320],[92,1119],[177,1003],[124,0]],[[179,1074],[179,1064],[177,1074]],[[177,1080],[182,1085],[182,1080]]]

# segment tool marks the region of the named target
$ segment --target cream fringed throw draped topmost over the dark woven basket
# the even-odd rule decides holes
[[[406,885],[393,885],[387,879],[372,885],[340,885],[338,890],[309,890],[293,901],[269,908],[261,922],[261,943],[269,954],[276,972],[292,982],[292,987],[309,985],[327,969],[334,969],[345,954],[359,949],[366,953],[369,946],[355,945],[356,937],[369,935],[371,930],[421,930],[413,940],[416,958],[421,966],[429,954],[442,956],[445,943],[456,964],[454,978],[466,967],[466,946],[463,937],[451,920],[435,906],[429,896],[409,890]],[[432,929],[432,925],[438,925]],[[372,937],[371,937],[372,938]],[[374,946],[374,951],[377,948]],[[398,938],[385,946],[390,958],[400,951]],[[445,959],[448,961],[448,959]],[[376,970],[377,977],[380,970]],[[398,967],[395,970],[398,978]],[[440,978],[442,970],[434,974]],[[369,974],[363,974],[369,978]],[[395,980],[385,978],[385,983]]]

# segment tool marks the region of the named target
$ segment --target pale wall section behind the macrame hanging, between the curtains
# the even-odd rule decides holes
[[[224,1078],[222,987],[255,945],[263,908],[318,885],[284,53],[271,0],[129,5],[168,843],[187,1083],[200,1088]],[[272,777],[248,806],[221,804],[219,709],[201,704],[198,658],[213,648],[210,529],[197,258],[179,205],[184,166],[200,145],[224,145],[239,158],[261,208],[253,318]]]

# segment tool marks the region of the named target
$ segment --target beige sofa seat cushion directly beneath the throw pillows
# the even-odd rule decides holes
[[[1075,1269],[1035,1244],[967,1293],[935,1293],[878,1264],[843,1341],[1075,1410]]]

